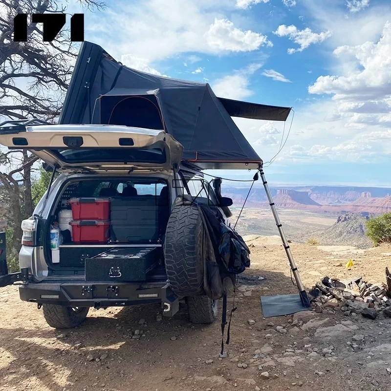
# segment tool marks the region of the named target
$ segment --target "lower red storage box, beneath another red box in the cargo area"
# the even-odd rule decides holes
[[[71,221],[72,239],[76,243],[107,243],[110,237],[110,221]]]

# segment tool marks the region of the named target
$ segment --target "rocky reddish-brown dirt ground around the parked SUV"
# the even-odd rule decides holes
[[[0,390],[390,391],[391,319],[346,317],[340,311],[262,318],[261,295],[297,291],[279,238],[248,243],[252,266],[240,279],[227,358],[218,358],[219,319],[194,326],[185,304],[162,321],[156,320],[158,305],[91,309],[82,326],[55,330],[12,286],[0,289]],[[378,282],[391,266],[391,247],[291,247],[307,287],[325,275],[363,275]],[[351,270],[334,266],[348,259],[354,260]],[[140,319],[146,323],[140,325]],[[249,326],[248,320],[256,323]],[[139,340],[131,338],[135,329],[142,329]]]

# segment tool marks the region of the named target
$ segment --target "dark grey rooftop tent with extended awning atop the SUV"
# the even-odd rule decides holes
[[[163,129],[183,145],[184,160],[203,169],[243,169],[262,160],[231,116],[285,121],[289,111],[217,98],[207,83],[134,70],[84,42],[59,123]]]

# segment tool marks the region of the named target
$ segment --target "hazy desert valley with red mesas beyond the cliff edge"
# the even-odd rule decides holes
[[[223,186],[234,201],[233,221],[239,215],[249,187]],[[287,237],[297,242],[369,248],[366,220],[391,211],[391,188],[297,186],[271,188]],[[243,235],[278,235],[261,184],[252,189],[237,225]]]

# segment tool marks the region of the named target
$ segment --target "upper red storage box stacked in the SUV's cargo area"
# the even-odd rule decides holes
[[[77,220],[109,220],[110,198],[71,198],[72,218]]]

